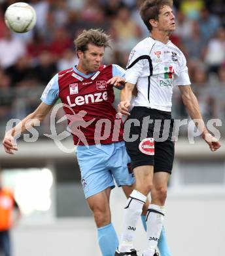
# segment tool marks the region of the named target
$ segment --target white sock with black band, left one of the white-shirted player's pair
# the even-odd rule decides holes
[[[121,235],[121,242],[118,247],[119,251],[129,252],[130,249],[133,249],[133,235],[146,200],[147,197],[137,190],[133,190],[133,192],[130,194],[128,204],[125,207],[124,225]]]

